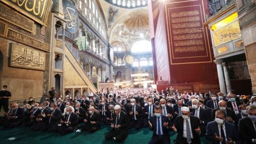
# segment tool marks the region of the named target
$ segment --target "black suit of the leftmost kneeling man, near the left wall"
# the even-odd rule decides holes
[[[25,115],[24,109],[22,108],[11,109],[10,112],[12,112],[10,116],[16,116],[16,118],[6,118],[3,124],[4,128],[14,128],[19,126],[22,122],[21,119]]]

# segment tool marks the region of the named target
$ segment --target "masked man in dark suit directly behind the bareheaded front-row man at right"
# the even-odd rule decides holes
[[[227,108],[227,102],[224,101],[224,100],[219,101],[219,108],[216,108],[216,109],[212,110],[212,119],[215,119],[215,112],[218,109],[221,109],[221,110],[223,110],[226,113],[226,115],[227,115],[227,119],[226,120],[229,123],[234,123],[235,126],[237,126],[238,120],[236,119],[236,114],[235,114],[235,112],[233,110]]]

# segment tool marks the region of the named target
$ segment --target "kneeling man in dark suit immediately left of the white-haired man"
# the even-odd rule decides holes
[[[43,131],[55,131],[59,120],[61,120],[62,113],[61,110],[58,109],[58,105],[55,103],[51,103],[51,113],[47,115],[48,122],[45,127],[42,128]]]

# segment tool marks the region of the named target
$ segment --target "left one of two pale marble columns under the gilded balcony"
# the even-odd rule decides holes
[[[225,94],[227,94],[227,90],[225,87],[223,69],[221,66],[221,63],[223,62],[223,60],[215,59],[213,62],[216,63],[216,65],[217,65],[217,73],[218,73],[218,77],[219,77],[220,92],[222,92],[225,95]]]

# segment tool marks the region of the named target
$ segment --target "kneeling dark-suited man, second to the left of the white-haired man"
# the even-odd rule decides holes
[[[47,105],[48,102],[44,101],[39,107],[41,113],[39,113],[39,115],[36,118],[36,122],[33,123],[33,126],[31,127],[33,131],[40,131],[43,127],[46,127],[48,122],[47,115],[51,113],[51,111],[47,108]]]

